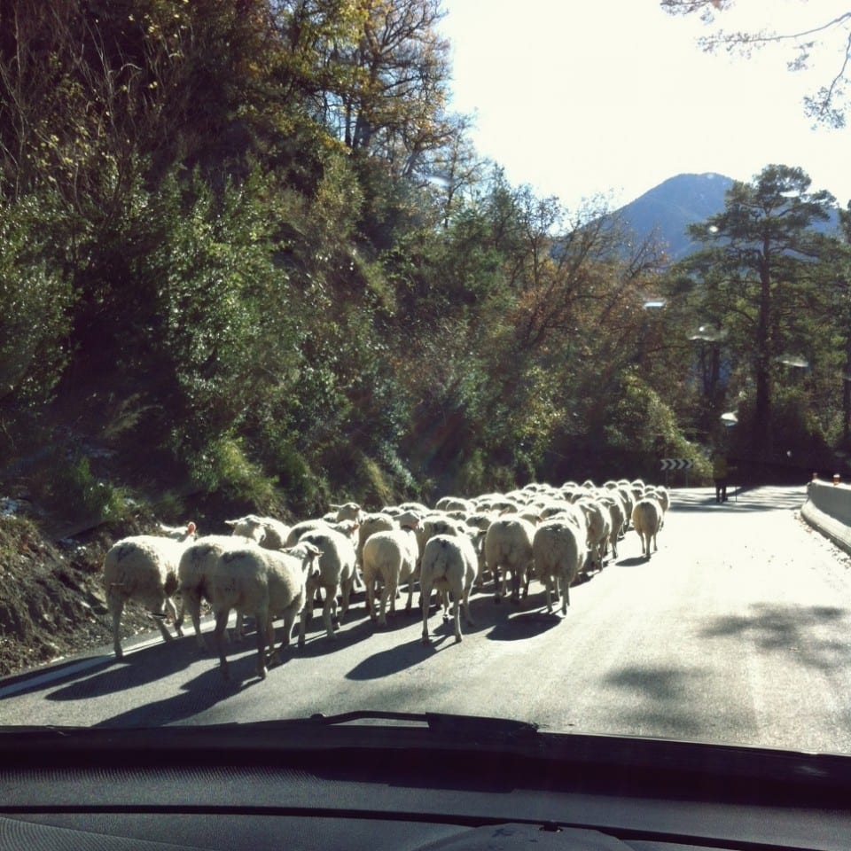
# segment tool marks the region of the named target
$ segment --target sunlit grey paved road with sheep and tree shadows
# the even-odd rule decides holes
[[[802,488],[721,505],[706,488],[675,491],[658,553],[646,562],[630,532],[619,558],[571,590],[564,619],[546,613],[533,583],[519,608],[476,597],[478,624],[460,645],[433,615],[426,648],[416,614],[376,634],[359,603],[336,642],[315,621],[306,647],[265,682],[250,640],[230,653],[234,684],[193,639],[156,642],[122,663],[83,660],[62,679],[0,683],[0,723],[433,710],[851,753],[851,561],[798,518],[802,501]]]

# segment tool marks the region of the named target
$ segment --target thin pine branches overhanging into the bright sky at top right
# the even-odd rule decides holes
[[[717,20],[718,13],[729,10],[734,3],[733,0],[660,0],[660,5],[673,15],[699,14],[711,26]],[[768,17],[769,7],[765,9]],[[751,32],[725,32],[718,29],[701,38],[699,44],[707,52],[724,49],[728,52],[739,51],[745,56],[750,55],[754,48],[759,49],[768,44],[791,44],[793,58],[787,62],[790,71],[808,68],[814,54],[829,55],[829,61],[833,63],[831,77],[814,94],[804,98],[804,112],[816,124],[840,128],[845,127],[848,110],[846,86],[851,74],[849,21],[851,10],[818,19],[812,26],[785,32],[769,27]]]

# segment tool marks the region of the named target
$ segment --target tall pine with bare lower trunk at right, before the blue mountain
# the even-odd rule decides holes
[[[809,193],[800,168],[766,166],[753,183],[730,187],[724,210],[689,232],[705,247],[683,269],[709,282],[733,345],[753,378],[753,456],[771,451],[774,381],[780,365],[808,346],[809,306],[826,237],[814,225],[830,217],[833,196]]]

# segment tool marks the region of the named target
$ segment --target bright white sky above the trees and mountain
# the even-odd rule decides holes
[[[851,199],[851,128],[811,129],[801,105],[830,82],[835,54],[815,75],[787,72],[788,48],[707,55],[696,39],[710,30],[658,0],[443,0],[443,9],[450,108],[472,113],[477,151],[511,183],[574,210],[598,194],[621,207],[685,172],[750,181],[782,163],[841,206]],[[738,0],[718,22],[780,31],[847,9],[847,0]]]

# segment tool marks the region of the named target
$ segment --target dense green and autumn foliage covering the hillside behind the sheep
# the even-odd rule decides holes
[[[726,410],[762,472],[849,448],[828,199],[769,167],[664,271],[602,207],[477,157],[440,16],[0,4],[4,488],[98,517],[137,492],[316,511],[660,457],[699,480]]]

